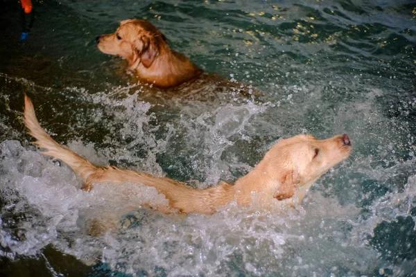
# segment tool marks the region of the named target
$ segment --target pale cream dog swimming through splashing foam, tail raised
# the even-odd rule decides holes
[[[235,201],[248,206],[252,201],[262,206],[285,200],[295,206],[302,202],[313,182],[329,168],[347,159],[352,150],[346,134],[318,140],[311,135],[297,135],[276,143],[257,166],[238,179],[234,185],[220,182],[204,190],[183,183],[156,177],[144,172],[123,170],[113,166],[98,167],[78,154],[59,145],[46,134],[35,116],[33,104],[25,96],[24,122],[35,144],[44,148],[43,154],[67,163],[85,181],[85,190],[93,184],[139,183],[153,186],[168,199],[168,206],[155,206],[165,213],[215,213],[220,206]],[[253,197],[254,196],[254,197]]]

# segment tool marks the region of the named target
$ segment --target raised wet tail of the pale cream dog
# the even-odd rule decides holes
[[[89,175],[94,174],[98,170],[97,166],[94,166],[94,164],[83,157],[80,157],[80,155],[69,148],[58,144],[51,136],[49,136],[49,134],[46,134],[37,121],[31,98],[28,98],[26,95],[24,96],[24,123],[30,130],[29,134],[37,139],[33,144],[46,150],[45,152],[42,152],[43,154],[67,163],[67,165],[72,168],[76,174],[80,175],[84,181]]]

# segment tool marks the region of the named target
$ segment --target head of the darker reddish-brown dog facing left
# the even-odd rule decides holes
[[[139,64],[150,67],[167,46],[166,37],[148,21],[128,19],[121,21],[116,32],[96,37],[98,49],[108,55],[116,55],[128,61],[129,69]]]

